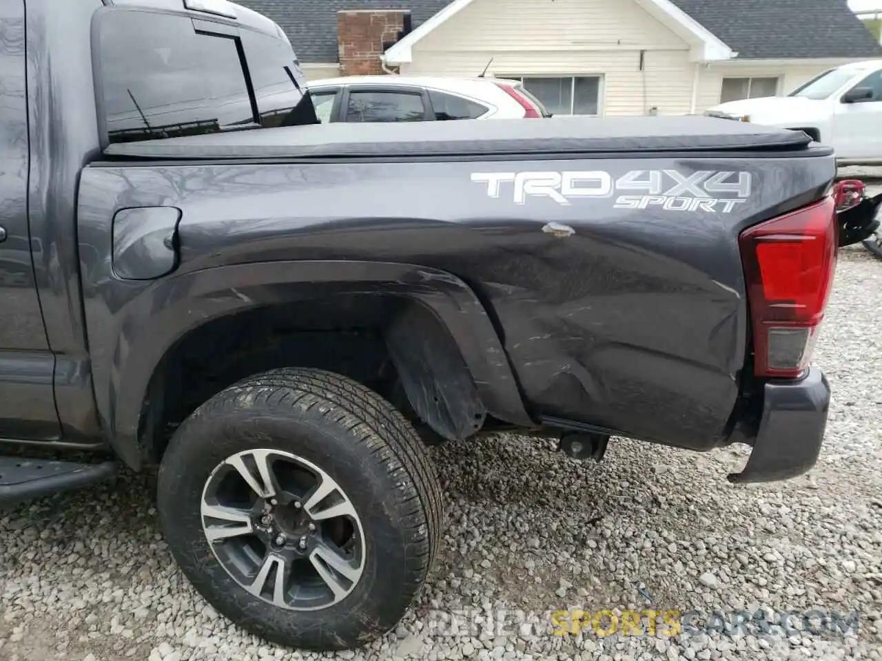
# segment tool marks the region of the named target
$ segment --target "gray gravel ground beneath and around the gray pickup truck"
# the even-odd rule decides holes
[[[616,440],[602,464],[517,436],[434,449],[452,506],[437,567],[398,630],[340,657],[882,659],[880,292],[882,261],[842,250],[816,354],[833,386],[826,444],[799,479],[730,486],[743,449]],[[214,613],[176,569],[146,485],[0,514],[0,658],[333,657]],[[797,618],[783,633],[551,635],[549,612],[571,607],[859,615],[848,634],[800,632]]]

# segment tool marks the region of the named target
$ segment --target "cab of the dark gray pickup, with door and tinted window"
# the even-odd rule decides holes
[[[0,438],[93,446],[82,292],[106,227],[77,227],[83,166],[131,140],[318,120],[288,38],[238,5],[4,0],[0,22]]]

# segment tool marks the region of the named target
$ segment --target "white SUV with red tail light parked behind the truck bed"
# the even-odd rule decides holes
[[[551,116],[519,80],[504,78],[350,76],[308,85],[322,123]]]

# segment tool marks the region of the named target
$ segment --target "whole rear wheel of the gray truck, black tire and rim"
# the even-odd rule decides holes
[[[276,498],[249,486],[242,466],[264,496],[272,483]],[[302,486],[310,471],[315,484]],[[323,501],[325,484],[336,490]],[[218,612],[307,650],[351,649],[393,628],[429,572],[442,523],[437,478],[414,428],[360,383],[302,368],[249,377],[184,420],[162,457],[157,502],[172,554]],[[332,510],[345,513],[320,518]],[[280,583],[288,567],[296,569]],[[292,580],[303,584],[293,591]]]

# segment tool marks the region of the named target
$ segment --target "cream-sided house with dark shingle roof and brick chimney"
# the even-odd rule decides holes
[[[486,70],[556,115],[696,113],[882,56],[846,0],[239,1],[280,23],[310,78]]]

